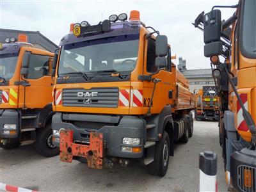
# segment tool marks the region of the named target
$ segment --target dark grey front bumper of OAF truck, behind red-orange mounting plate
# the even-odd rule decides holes
[[[90,121],[94,121],[94,123],[97,123],[96,119],[99,122],[102,122],[102,119],[106,119],[106,121],[108,121],[108,124],[104,125],[104,122],[102,122],[102,127],[97,127],[97,129],[92,129],[91,124],[88,125],[88,127],[86,125],[84,127],[79,127],[77,125],[74,125],[73,123],[65,122],[65,120],[63,120],[62,113],[56,113],[54,116],[52,116],[52,127],[54,130],[58,131],[60,131],[60,129],[64,131],[72,131],[72,138],[70,139],[71,143],[79,143],[79,145],[82,146],[91,145],[92,132],[101,134],[104,156],[124,158],[143,157],[143,144],[145,143],[145,120],[138,118],[138,116],[122,116],[120,117],[118,122],[115,122],[115,125],[109,125],[109,122],[111,122],[111,118],[105,118],[106,116],[102,118],[102,116],[99,115],[84,115],[83,119],[88,118],[88,116],[90,116]],[[88,121],[88,119],[84,121]],[[114,121],[115,120],[113,120],[113,122]],[[90,138],[90,140],[88,140],[88,138]],[[141,143],[140,145],[123,144],[123,138],[141,138]],[[60,142],[56,142],[56,138],[54,140],[54,144],[59,146],[61,141],[63,141],[63,138],[61,138],[60,136]],[[122,150],[122,147],[138,147],[141,148],[141,151],[124,151]]]

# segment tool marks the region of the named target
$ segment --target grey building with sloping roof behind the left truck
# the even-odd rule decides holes
[[[54,44],[49,38],[42,35],[39,31],[20,31],[14,29],[0,29],[0,42],[4,43],[6,38],[15,37],[22,33],[28,36],[28,43],[33,44],[36,48],[45,49],[54,52],[58,45]]]

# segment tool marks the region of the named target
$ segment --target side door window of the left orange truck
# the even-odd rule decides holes
[[[31,54],[29,60],[28,74],[24,76],[26,79],[38,79],[49,74],[49,56],[39,54]]]

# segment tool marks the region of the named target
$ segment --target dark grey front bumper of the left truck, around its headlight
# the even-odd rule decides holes
[[[4,129],[4,124],[15,124],[16,129]],[[12,131],[12,134],[4,134]],[[0,109],[0,138],[13,139],[19,137],[19,112],[15,109]]]

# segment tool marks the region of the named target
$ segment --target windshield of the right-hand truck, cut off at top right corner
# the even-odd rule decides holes
[[[246,55],[256,57],[256,1],[244,1],[242,44]]]

